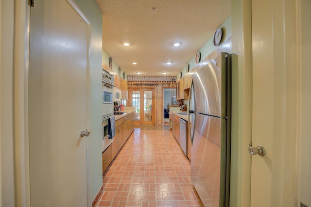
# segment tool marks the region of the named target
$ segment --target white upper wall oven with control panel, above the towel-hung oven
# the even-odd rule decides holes
[[[113,115],[113,75],[106,70],[102,70],[102,118]]]

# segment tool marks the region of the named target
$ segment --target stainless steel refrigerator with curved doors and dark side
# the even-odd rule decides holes
[[[229,206],[231,54],[221,53],[192,75],[191,181],[205,207]]]

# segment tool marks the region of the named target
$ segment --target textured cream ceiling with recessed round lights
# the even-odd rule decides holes
[[[103,13],[103,48],[127,75],[176,76],[231,15],[231,0],[96,2]],[[174,41],[182,45],[175,48]]]

